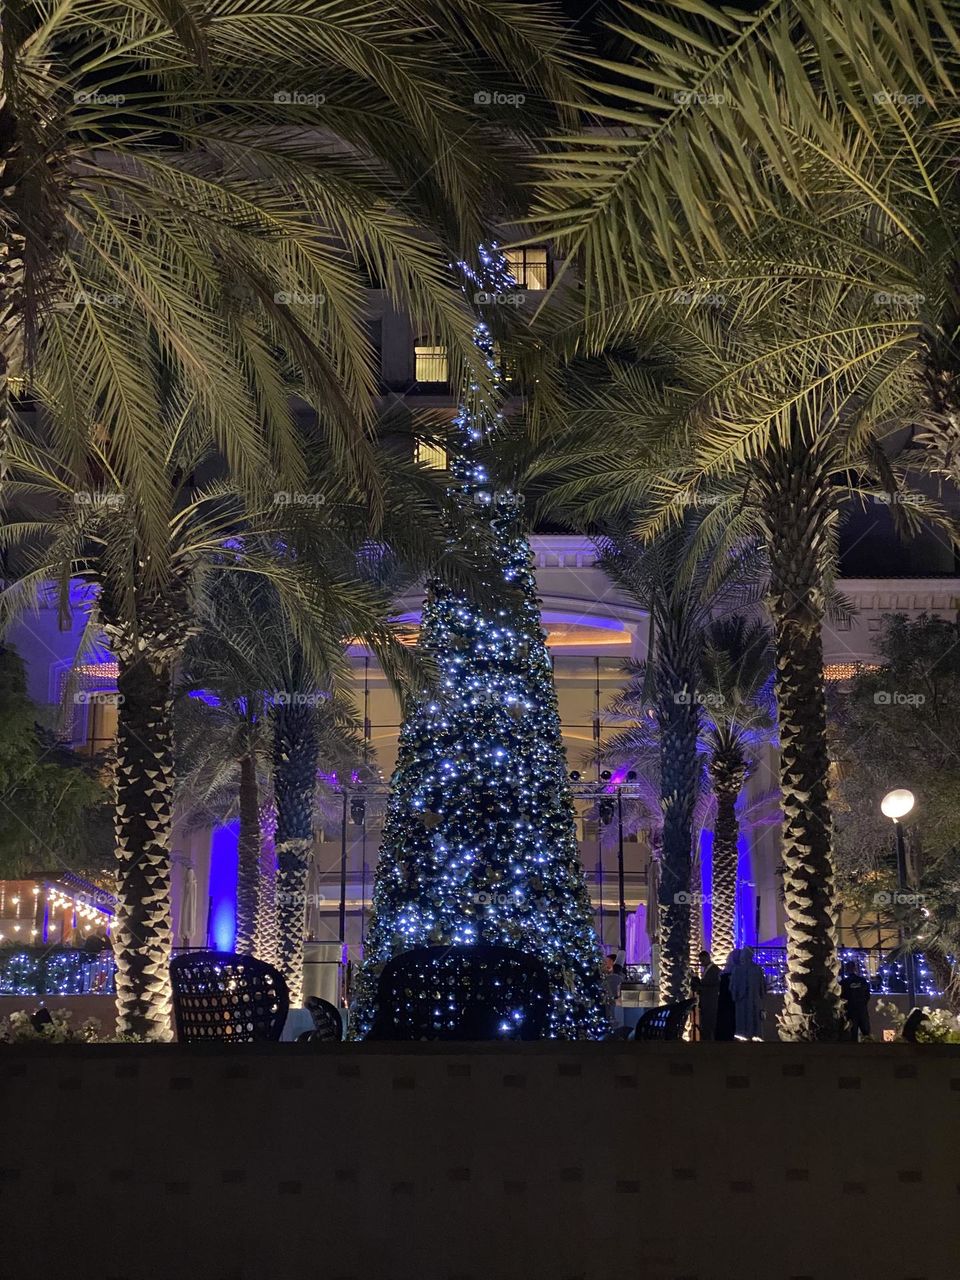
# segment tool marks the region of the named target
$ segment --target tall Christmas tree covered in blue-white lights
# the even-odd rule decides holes
[[[513,288],[497,250],[481,250],[479,271],[465,273],[481,300]],[[497,379],[485,324],[475,340]],[[451,536],[466,549],[483,544],[498,568],[484,604],[428,586],[419,643],[438,676],[401,732],[353,1006],[358,1038],[387,960],[430,943],[534,954],[550,977],[552,1033],[598,1038],[608,1029],[522,499],[492,484],[479,457],[499,422],[497,406],[461,408],[451,434],[449,500],[460,517]]]

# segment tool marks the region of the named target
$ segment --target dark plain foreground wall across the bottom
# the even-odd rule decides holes
[[[0,1052],[0,1275],[956,1280],[960,1050]]]

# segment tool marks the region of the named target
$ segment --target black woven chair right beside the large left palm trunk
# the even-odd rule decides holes
[[[170,963],[170,982],[180,1044],[280,1038],[291,1002],[273,965],[230,951],[187,951]]]

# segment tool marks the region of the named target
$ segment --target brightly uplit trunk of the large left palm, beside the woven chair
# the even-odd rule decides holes
[[[141,652],[118,653],[116,1027],[168,1041],[170,1028],[170,668]]]

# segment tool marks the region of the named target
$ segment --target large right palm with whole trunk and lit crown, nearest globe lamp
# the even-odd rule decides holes
[[[771,289],[756,307],[695,308],[664,329],[662,367],[641,396],[636,371],[612,360],[609,385],[575,404],[572,479],[553,500],[580,502],[588,518],[646,504],[639,532],[654,539],[703,504],[698,536],[721,563],[750,538],[765,547],[790,977],[782,1034],[806,1038],[842,1025],[820,639],[838,524],[851,503],[879,494],[906,532],[923,522],[955,530],[890,456],[916,407],[916,352],[891,338],[888,321],[868,324],[863,297],[845,287]],[[598,431],[616,468],[590,456]]]

